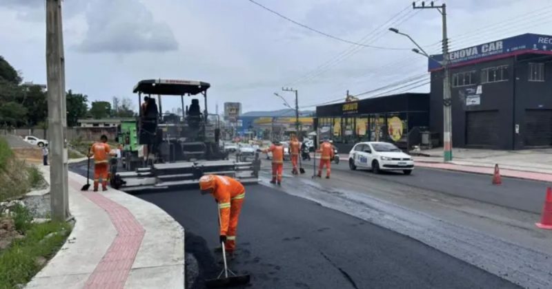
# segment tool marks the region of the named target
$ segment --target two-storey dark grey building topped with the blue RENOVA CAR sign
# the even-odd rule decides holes
[[[430,129],[442,144],[443,73],[434,61],[429,71]],[[451,52],[451,86],[453,147],[552,146],[552,36],[522,34]]]

